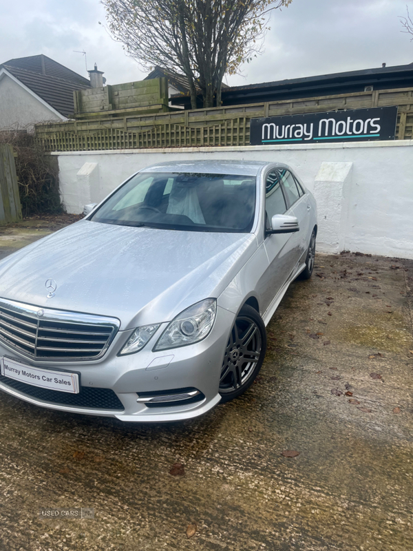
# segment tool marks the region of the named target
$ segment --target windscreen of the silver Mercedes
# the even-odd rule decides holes
[[[255,212],[255,177],[145,172],[109,197],[91,220],[186,231],[248,232]]]

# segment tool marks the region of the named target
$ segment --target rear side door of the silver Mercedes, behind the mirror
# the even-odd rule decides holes
[[[290,205],[289,214],[296,216],[299,224],[299,231],[293,235],[295,264],[297,264],[304,254],[306,254],[309,242],[308,227],[310,224],[310,216],[308,211],[308,197],[289,170],[280,170],[279,179],[284,189],[288,205]]]

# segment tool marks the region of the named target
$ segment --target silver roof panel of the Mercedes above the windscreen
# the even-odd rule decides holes
[[[142,172],[196,172],[198,174],[257,176],[267,165],[286,167],[282,163],[268,163],[264,160],[176,160],[151,165],[143,169]]]

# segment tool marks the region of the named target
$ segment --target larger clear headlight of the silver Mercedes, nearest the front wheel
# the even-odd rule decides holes
[[[153,350],[175,349],[204,339],[212,329],[216,311],[215,298],[207,298],[189,306],[171,321]]]

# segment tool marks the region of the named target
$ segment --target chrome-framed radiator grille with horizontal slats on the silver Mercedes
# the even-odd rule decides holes
[[[118,328],[115,318],[0,300],[0,339],[39,360],[96,360]]]

